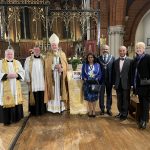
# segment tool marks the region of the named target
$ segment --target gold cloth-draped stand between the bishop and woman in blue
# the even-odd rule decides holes
[[[74,75],[74,76],[73,76]],[[69,70],[67,72],[70,114],[86,114],[87,103],[84,101],[82,92],[83,81],[78,78],[78,72]]]

